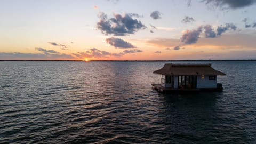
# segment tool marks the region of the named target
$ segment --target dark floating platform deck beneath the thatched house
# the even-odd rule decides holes
[[[222,87],[211,88],[211,89],[174,89],[171,87],[163,87],[161,84],[151,84],[152,88],[160,93],[186,93],[186,92],[201,92],[201,91],[217,91],[221,92],[223,90]]]

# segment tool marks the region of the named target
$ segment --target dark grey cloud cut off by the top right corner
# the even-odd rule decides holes
[[[229,7],[231,9],[238,9],[246,6],[253,5],[256,1],[255,0],[204,0],[206,4],[213,4],[216,7]]]

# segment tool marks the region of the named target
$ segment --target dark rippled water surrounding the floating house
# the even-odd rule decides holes
[[[256,143],[256,62],[223,92],[159,94],[171,62],[0,62],[0,143]]]

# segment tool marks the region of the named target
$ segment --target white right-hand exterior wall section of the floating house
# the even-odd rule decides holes
[[[217,76],[214,80],[209,80],[209,76],[197,76],[197,88],[217,88]]]

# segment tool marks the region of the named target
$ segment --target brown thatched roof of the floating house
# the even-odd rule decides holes
[[[226,75],[221,71],[215,70],[211,64],[173,64],[167,63],[163,68],[153,72],[160,75]]]

